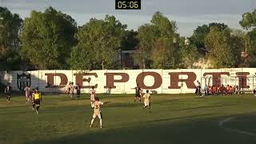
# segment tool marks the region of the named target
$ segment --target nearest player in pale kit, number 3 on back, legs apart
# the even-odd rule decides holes
[[[94,101],[94,115],[93,115],[93,118],[91,119],[90,127],[93,126],[94,119],[98,116],[99,122],[100,122],[100,125],[101,125],[101,128],[102,128],[102,112],[101,112],[101,105],[103,105],[103,102],[100,102],[100,101],[99,101],[99,98],[98,98],[98,97],[95,97],[95,101]]]

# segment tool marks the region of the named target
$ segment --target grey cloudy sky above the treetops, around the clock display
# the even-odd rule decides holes
[[[90,18],[105,18],[114,14],[128,29],[138,30],[138,26],[149,22],[156,11],[177,22],[178,33],[190,36],[197,26],[210,22],[223,22],[231,28],[242,29],[239,20],[242,14],[252,11],[256,0],[142,0],[142,10],[114,10],[114,0],[1,0],[22,18],[30,15],[31,10],[43,11],[53,6],[69,14],[79,26]]]

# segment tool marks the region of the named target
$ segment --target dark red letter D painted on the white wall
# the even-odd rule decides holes
[[[56,73],[56,74],[55,73],[46,73],[45,75],[47,76],[47,86],[46,86],[46,88],[63,88],[67,84],[66,74],[62,74],[62,73]],[[61,78],[60,84],[54,86],[54,77]]]

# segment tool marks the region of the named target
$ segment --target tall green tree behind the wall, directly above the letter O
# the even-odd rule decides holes
[[[149,24],[138,28],[138,50],[134,60],[141,68],[174,68],[178,66],[177,26],[162,13],[156,12]],[[166,54],[166,55],[162,55]]]

